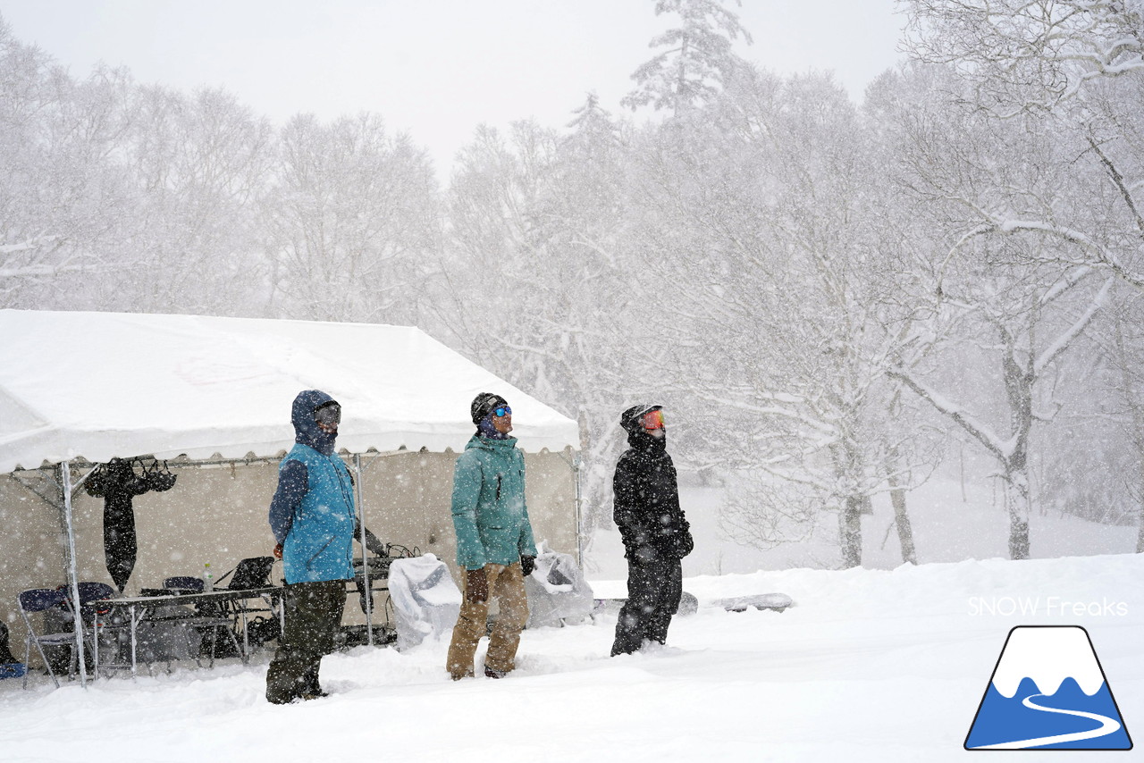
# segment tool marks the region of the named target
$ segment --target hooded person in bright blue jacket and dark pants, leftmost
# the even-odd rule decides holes
[[[278,467],[270,528],[286,578],[286,623],[267,670],[267,700],[276,705],[326,696],[318,668],[334,650],[353,578],[353,480],[334,452],[341,413],[329,395],[300,392],[291,413],[295,445]],[[367,545],[384,553],[372,534]]]

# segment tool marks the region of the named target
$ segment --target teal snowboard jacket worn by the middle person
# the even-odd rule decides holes
[[[456,563],[466,570],[537,556],[516,438],[474,435],[453,470]]]

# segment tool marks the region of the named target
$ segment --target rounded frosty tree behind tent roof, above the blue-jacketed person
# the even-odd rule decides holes
[[[432,270],[437,185],[426,152],[374,114],[299,114],[262,202],[276,310],[318,320],[416,323]]]

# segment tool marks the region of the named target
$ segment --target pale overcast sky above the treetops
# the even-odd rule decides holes
[[[829,70],[856,100],[899,58],[893,0],[733,0],[780,73]],[[299,112],[381,114],[438,169],[482,122],[562,127],[596,92],[621,111],[649,41],[675,19],[654,0],[0,0],[16,39],[86,77],[122,65],[141,82],[224,87],[281,124]]]

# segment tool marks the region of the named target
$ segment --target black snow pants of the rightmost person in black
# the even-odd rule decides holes
[[[628,559],[628,601],[615,622],[612,657],[630,654],[644,642],[665,643],[682,595],[683,565],[678,559]]]

